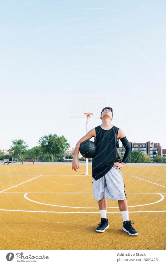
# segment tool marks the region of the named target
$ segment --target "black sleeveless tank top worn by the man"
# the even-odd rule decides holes
[[[97,150],[92,159],[92,176],[95,180],[103,177],[112,168],[115,161],[120,162],[118,154],[118,130],[113,126],[110,130],[104,130],[101,126],[95,127]]]

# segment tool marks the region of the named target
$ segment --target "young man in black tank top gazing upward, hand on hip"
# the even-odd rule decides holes
[[[90,130],[76,144],[72,169],[79,169],[78,154],[82,142],[95,137],[97,150],[92,160],[92,176],[93,176],[93,193],[94,199],[98,201],[101,222],[96,228],[97,232],[105,232],[109,228],[107,219],[107,200],[118,200],[119,209],[123,218],[123,230],[131,236],[138,235],[138,232],[132,227],[129,220],[129,211],[125,194],[125,184],[120,172],[120,168],[124,167],[131,147],[124,132],[111,124],[113,120],[113,110],[111,107],[105,107],[101,111],[100,119],[102,124]],[[118,139],[125,146],[125,155],[120,161],[117,151]]]

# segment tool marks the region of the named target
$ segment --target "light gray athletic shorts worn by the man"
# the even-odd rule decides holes
[[[100,179],[93,179],[93,193],[96,201],[103,198],[113,201],[124,200],[126,198],[125,184],[120,169],[112,167]]]

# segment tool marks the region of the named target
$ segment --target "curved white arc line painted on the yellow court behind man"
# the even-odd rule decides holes
[[[33,203],[37,203],[37,204],[42,204],[42,205],[48,205],[48,206],[54,206],[54,207],[61,207],[61,208],[74,208],[74,209],[99,209],[98,207],[74,207],[74,206],[63,206],[63,205],[56,205],[56,204],[46,204],[46,203],[41,203],[41,202],[38,202],[38,201],[34,201],[32,199],[29,199],[27,197],[27,194],[28,193],[25,193],[24,194],[24,198],[27,199],[28,201],[31,201]],[[160,193],[156,193],[156,194],[159,194],[161,196],[161,199],[156,201],[156,202],[153,202],[153,203],[149,203],[149,204],[140,204],[140,205],[134,205],[134,206],[128,206],[129,207],[139,207],[139,206],[145,206],[145,205],[150,205],[150,204],[156,204],[156,203],[159,203],[161,202],[162,200],[164,200],[164,196]],[[113,209],[113,208],[119,208],[119,207],[107,207],[107,209]]]

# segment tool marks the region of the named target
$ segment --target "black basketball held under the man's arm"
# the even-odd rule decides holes
[[[96,145],[94,142],[87,140],[80,145],[80,153],[85,158],[93,158],[96,152]]]

